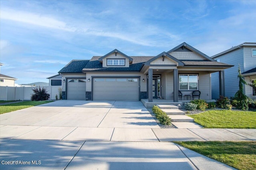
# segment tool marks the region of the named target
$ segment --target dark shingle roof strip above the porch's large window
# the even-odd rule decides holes
[[[220,63],[216,61],[182,61],[184,66],[224,66],[224,67],[231,67],[233,65]]]

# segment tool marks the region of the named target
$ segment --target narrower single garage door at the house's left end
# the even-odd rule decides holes
[[[67,99],[86,100],[86,80],[74,78],[67,81]]]

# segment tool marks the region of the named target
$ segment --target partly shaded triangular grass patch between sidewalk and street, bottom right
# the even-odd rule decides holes
[[[256,141],[175,143],[239,170],[256,170]]]

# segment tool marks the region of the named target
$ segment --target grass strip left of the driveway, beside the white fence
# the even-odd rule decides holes
[[[20,109],[25,109],[32,106],[37,106],[40,104],[46,104],[49,102],[52,102],[52,101],[48,101],[48,100],[47,101],[26,101],[26,102],[14,103],[14,104],[6,104],[6,105],[0,106],[0,114],[16,111]]]

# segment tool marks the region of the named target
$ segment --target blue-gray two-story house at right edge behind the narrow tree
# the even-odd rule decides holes
[[[250,79],[256,79],[256,43],[242,43],[226,51],[212,56],[212,59],[234,65],[224,71],[224,91],[219,89],[219,75],[212,74],[212,98],[217,99],[219,95],[234,97],[239,89],[238,66],[247,83]],[[250,86],[244,86],[244,92],[250,98],[256,98],[255,91]]]

